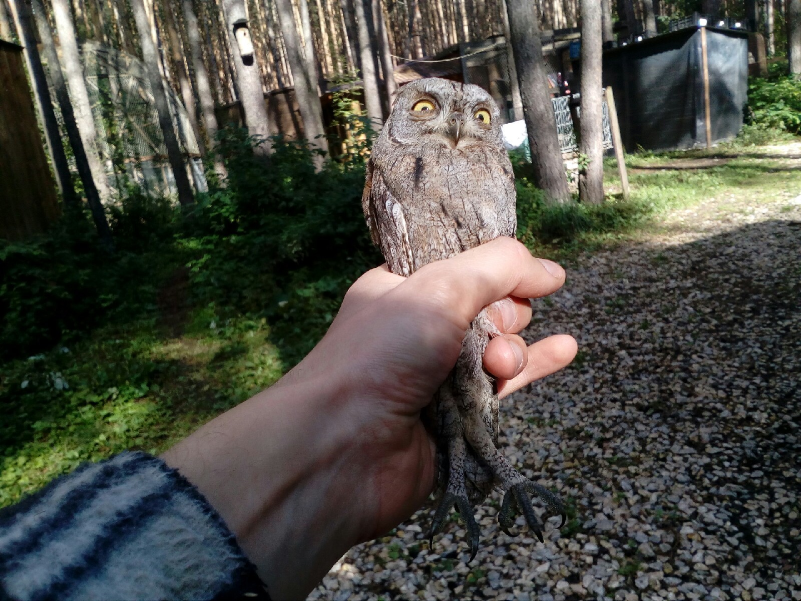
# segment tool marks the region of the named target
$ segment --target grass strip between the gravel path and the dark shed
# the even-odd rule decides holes
[[[775,132],[771,142],[799,140]],[[771,157],[748,139],[735,139],[710,150],[642,152],[626,155],[630,181],[630,200],[623,200],[617,163],[605,159],[606,202],[600,206],[568,203],[555,206],[537,204],[536,192],[526,180],[518,184],[518,216],[526,228],[517,236],[540,256],[570,262],[579,252],[592,251],[605,244],[628,240],[660,227],[659,217],[687,208],[711,197],[743,196],[758,203],[777,193],[801,188],[801,172],[787,167],[781,157]],[[720,158],[719,164],[709,159]],[[682,168],[682,160],[707,159],[711,166]],[[658,167],[671,166],[670,169]],[[529,216],[525,206],[537,204]]]

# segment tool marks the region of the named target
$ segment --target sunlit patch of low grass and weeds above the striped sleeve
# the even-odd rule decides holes
[[[203,336],[167,338],[143,321],[6,365],[0,506],[81,462],[158,454],[268,387],[284,369],[268,334],[264,324],[229,320]]]

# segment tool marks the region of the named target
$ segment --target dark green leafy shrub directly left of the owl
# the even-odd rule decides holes
[[[211,188],[183,239],[195,305],[223,319],[265,317],[288,365],[328,328],[344,292],[383,262],[361,211],[364,163],[314,170],[304,143],[275,139],[270,167],[242,130],[223,133],[225,188]]]

